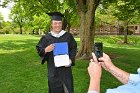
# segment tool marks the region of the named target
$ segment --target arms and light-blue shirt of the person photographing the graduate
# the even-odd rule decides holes
[[[117,88],[107,89],[106,93],[140,93],[140,68],[137,70],[138,74],[130,74],[116,67],[105,53],[103,53],[103,57],[98,59],[100,62],[97,61],[94,53],[92,53],[92,56],[93,59],[90,60],[88,67],[90,76],[88,93],[100,93],[102,68],[123,83],[122,86]]]

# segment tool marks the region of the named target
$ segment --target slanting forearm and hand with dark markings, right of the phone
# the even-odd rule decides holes
[[[101,66],[108,72],[110,72],[114,77],[116,77],[120,82],[122,82],[123,84],[127,84],[128,83],[128,79],[129,79],[129,73],[121,70],[120,68],[116,67],[110,57],[103,53],[103,57],[99,58],[99,60],[101,61],[100,64]]]

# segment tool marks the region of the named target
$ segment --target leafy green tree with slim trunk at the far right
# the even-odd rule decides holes
[[[109,2],[107,9],[110,10],[113,16],[117,18],[119,23],[124,28],[124,41],[123,43],[128,43],[128,24],[132,19],[136,18],[140,14],[140,1],[139,0],[114,0],[114,2]],[[104,7],[106,8],[106,7]]]

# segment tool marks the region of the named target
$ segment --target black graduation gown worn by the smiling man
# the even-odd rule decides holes
[[[72,60],[71,65],[74,66],[77,44],[70,33],[66,32],[59,38],[49,33],[42,36],[36,46],[38,54],[41,57],[41,63],[44,64],[47,61],[49,93],[64,93],[64,85],[69,93],[74,93],[71,67],[55,67],[53,51],[45,54],[45,48],[48,45],[58,42],[68,42],[69,57]]]

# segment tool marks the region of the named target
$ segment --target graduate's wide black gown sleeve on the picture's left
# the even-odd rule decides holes
[[[36,45],[37,52],[41,58],[41,64],[45,63],[45,60],[48,58],[48,53],[45,53],[45,48],[47,44],[47,40],[45,36],[42,36],[38,44]]]

